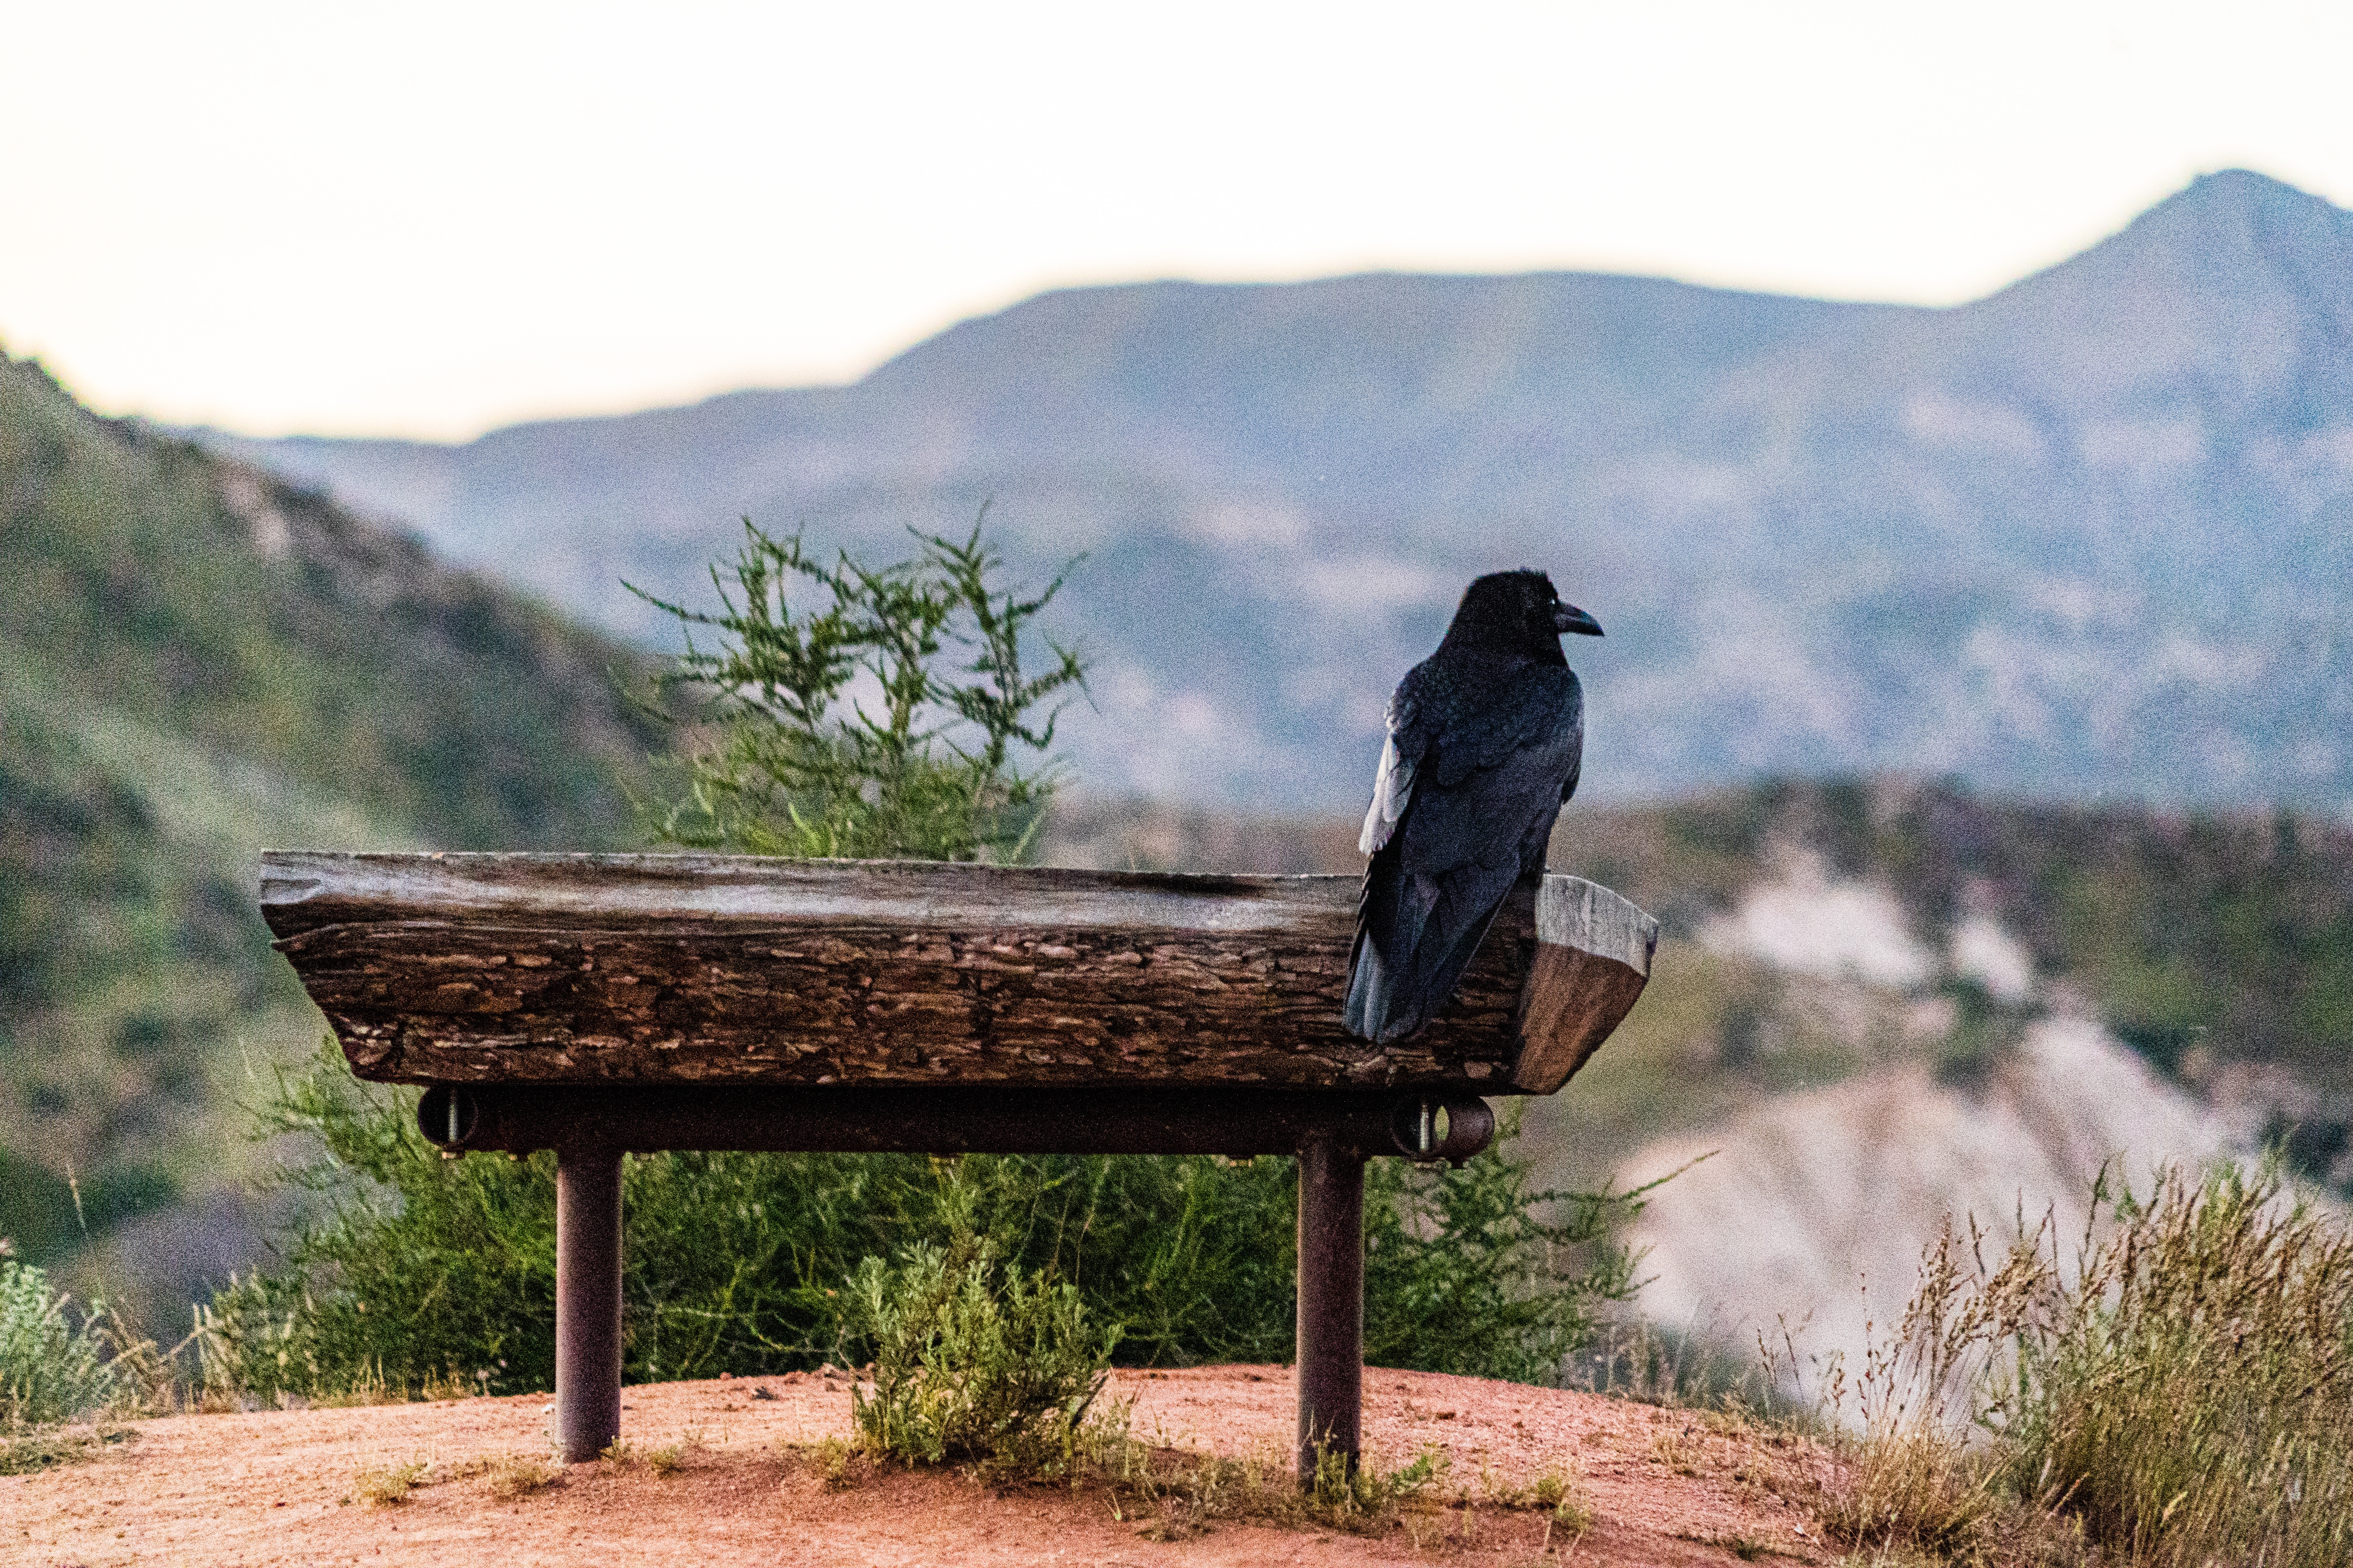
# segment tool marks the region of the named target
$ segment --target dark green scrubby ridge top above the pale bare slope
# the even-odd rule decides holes
[[[1737,903],[1791,849],[1866,877],[1944,940],[1998,919],[2125,1044],[2200,1079],[2271,1063],[2353,1105],[2353,832],[2294,811],[2002,802],[1906,780],[1774,780],[1595,811],[1584,860],[1668,929]]]

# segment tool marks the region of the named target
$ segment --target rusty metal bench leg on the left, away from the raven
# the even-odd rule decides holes
[[[593,1460],[621,1436],[621,1154],[555,1152],[555,1448]]]

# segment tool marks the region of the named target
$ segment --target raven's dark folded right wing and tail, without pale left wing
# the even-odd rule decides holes
[[[1426,748],[1407,811],[1365,867],[1351,1032],[1400,1039],[1445,1006],[1513,884],[1544,870],[1581,759],[1584,696],[1553,665],[1515,672],[1504,703]]]

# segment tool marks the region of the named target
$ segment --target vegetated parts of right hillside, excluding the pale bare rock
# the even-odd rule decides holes
[[[1713,922],[1812,856],[1885,889],[1934,954],[1873,994],[1708,943]],[[1981,1086],[2040,1011],[2099,1018],[2297,1175],[2353,1197],[2353,830],[2292,811],[1988,799],[1948,783],[1765,780],[1659,806],[1572,806],[1553,865],[1661,917],[1657,980],[1537,1121],[1595,1180],[1631,1150],[1777,1093],[1927,1058]],[[1955,973],[1972,917],[2024,947],[2038,997]],[[1911,1001],[1937,999],[1922,1030]]]

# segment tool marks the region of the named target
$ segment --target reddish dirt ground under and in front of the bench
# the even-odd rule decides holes
[[[1280,1366],[1120,1373],[1144,1441],[1228,1458],[1287,1453]],[[680,1465],[576,1465],[496,1497],[468,1462],[548,1450],[546,1396],[341,1410],[256,1410],[136,1422],[106,1458],[0,1479],[0,1561],[75,1563],[812,1563],[899,1568],[1212,1568],[1257,1563],[1734,1563],[1821,1561],[1805,1495],[1819,1455],[1725,1434],[1687,1410],[1435,1373],[1365,1373],[1365,1443],[1400,1467],[1449,1458],[1438,1495],[1379,1535],[1219,1523],[1151,1540],[1108,1493],[988,1488],[953,1472],[873,1472],[828,1490],[795,1446],[849,1432],[840,1375],[645,1385],[624,1436],[685,1443]],[[398,1505],[353,1502],[362,1469],[426,1460]],[[1546,1528],[1506,1488],[1574,1476],[1593,1528]]]

